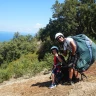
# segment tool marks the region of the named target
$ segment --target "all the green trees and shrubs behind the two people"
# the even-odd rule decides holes
[[[9,42],[0,42],[0,82],[11,77],[29,77],[52,67],[50,48],[59,45],[55,34],[86,34],[96,42],[96,1],[56,0],[52,6],[52,18],[35,37],[20,35],[19,32]]]

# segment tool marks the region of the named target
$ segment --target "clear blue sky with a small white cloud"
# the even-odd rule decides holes
[[[0,32],[37,33],[52,18],[51,8],[55,1],[0,0]]]

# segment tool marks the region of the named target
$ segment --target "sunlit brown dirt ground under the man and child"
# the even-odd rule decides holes
[[[30,79],[12,79],[0,84],[0,96],[96,96],[96,63],[86,72],[84,82],[49,89],[50,74]]]

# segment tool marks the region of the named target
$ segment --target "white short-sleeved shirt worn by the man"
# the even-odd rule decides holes
[[[70,37],[65,38],[64,44],[63,44],[64,51],[66,51],[66,50],[72,51],[72,47],[70,45],[71,41],[74,42],[74,40]]]

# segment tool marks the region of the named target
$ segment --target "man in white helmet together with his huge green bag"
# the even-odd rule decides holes
[[[78,35],[77,38],[76,36],[65,38],[64,35],[59,32],[56,33],[55,39],[63,44],[64,56],[67,56],[68,52],[71,53],[71,66],[69,68],[69,82],[71,84],[73,73],[78,80],[78,72],[84,72],[96,60],[96,45],[86,35],[82,34]]]

